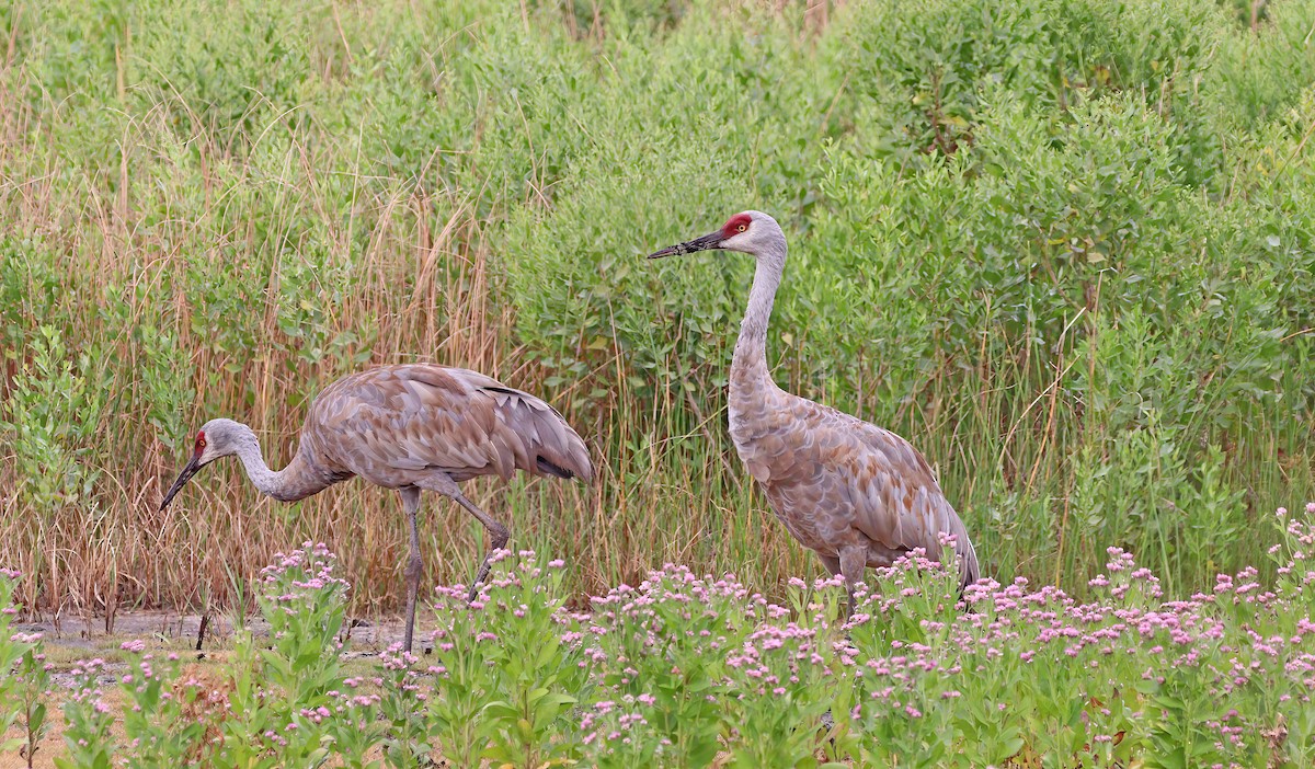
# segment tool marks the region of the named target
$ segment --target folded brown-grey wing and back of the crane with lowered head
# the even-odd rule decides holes
[[[584,440],[551,406],[463,368],[384,365],[343,377],[316,398],[308,430],[304,440],[388,486],[430,471],[458,481],[517,469],[593,477]]]

